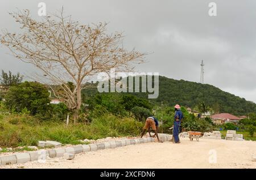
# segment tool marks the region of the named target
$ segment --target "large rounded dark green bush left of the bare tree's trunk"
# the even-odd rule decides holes
[[[24,82],[10,87],[7,92],[6,106],[14,112],[30,111],[31,115],[45,114],[49,109],[49,92],[43,84],[36,82]]]

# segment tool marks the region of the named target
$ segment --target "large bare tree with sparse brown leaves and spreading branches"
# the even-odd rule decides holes
[[[16,58],[32,63],[48,80],[54,95],[73,110],[76,122],[81,107],[81,90],[86,78],[98,72],[131,71],[134,63],[144,61],[144,53],[123,49],[122,33],[106,32],[106,23],[81,25],[59,15],[44,16],[37,21],[29,10],[10,13],[22,25],[22,32],[3,31],[1,43],[9,47]],[[69,85],[72,82],[73,85]],[[61,87],[61,91],[56,91]]]

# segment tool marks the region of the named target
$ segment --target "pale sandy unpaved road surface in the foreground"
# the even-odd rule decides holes
[[[73,160],[50,158],[46,163],[34,161],[0,168],[256,168],[256,162],[252,161],[255,155],[256,142],[214,139],[191,142],[181,138],[180,144],[128,145],[81,153]]]

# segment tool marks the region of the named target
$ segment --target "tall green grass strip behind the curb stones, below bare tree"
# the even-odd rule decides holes
[[[133,118],[119,118],[109,114],[93,119],[90,125],[71,123],[69,126],[64,122],[40,122],[29,115],[0,115],[0,147],[37,145],[38,140],[82,144],[79,140],[139,135],[142,127],[143,124]]]

